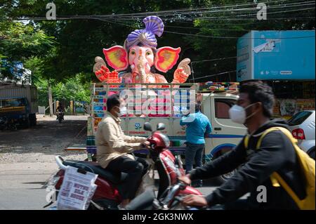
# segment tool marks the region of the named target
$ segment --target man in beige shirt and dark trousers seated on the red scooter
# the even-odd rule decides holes
[[[120,100],[114,94],[107,98],[107,112],[98,124],[96,132],[97,161],[103,169],[114,173],[128,173],[121,186],[121,208],[124,208],[135,197],[142,177],[147,173],[149,165],[145,159],[134,157],[131,152],[147,147],[147,138],[125,136],[121,130]]]

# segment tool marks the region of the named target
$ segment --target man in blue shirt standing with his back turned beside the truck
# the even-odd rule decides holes
[[[204,136],[211,133],[212,126],[207,118],[201,112],[201,105],[195,104],[195,113],[180,119],[181,126],[187,126],[185,130],[186,147],[185,147],[185,172],[189,173],[195,166],[202,166],[202,157],[205,148]],[[202,187],[202,180],[199,180],[197,187]]]

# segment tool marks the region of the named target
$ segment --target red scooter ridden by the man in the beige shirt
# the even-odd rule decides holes
[[[150,123],[145,123],[144,129],[145,131],[152,131]],[[150,146],[148,147],[150,159],[152,159],[152,164],[154,164],[154,168],[150,169],[152,169],[153,173],[154,170],[156,170],[159,175],[157,197],[154,196],[155,200],[150,201],[152,197],[147,197],[147,195],[153,196],[153,190],[148,188],[144,189],[143,187],[143,190],[138,190],[136,198],[133,199],[133,203],[130,206],[131,208],[133,208],[133,204],[137,204],[138,196],[143,198],[145,195],[145,199],[147,199],[147,203],[145,204],[147,204],[147,207],[138,206],[137,209],[171,209],[177,201],[177,197],[183,197],[185,195],[202,195],[202,193],[194,187],[178,183],[178,176],[184,176],[185,172],[180,157],[174,157],[167,149],[170,145],[170,140],[160,132],[164,129],[164,124],[157,124],[157,130],[152,131],[152,135],[147,138],[147,141],[150,142]],[[96,192],[91,199],[91,204],[88,209],[118,209],[118,205],[122,201],[119,187],[120,183],[122,183],[128,175],[127,173],[112,173],[107,169],[103,169],[96,162],[64,160],[60,156],[56,156],[55,160],[60,167],[60,170],[48,180],[46,187],[54,187],[55,190],[60,190],[65,176],[65,169],[67,166],[74,166],[81,171],[98,174],[98,178],[95,182],[98,187],[96,188]],[[145,174],[145,176],[147,175],[149,176],[149,172]],[[143,177],[143,180],[145,179],[145,176]],[[53,202],[44,207],[50,206],[51,204],[53,204]],[[179,206],[179,203],[176,204]]]

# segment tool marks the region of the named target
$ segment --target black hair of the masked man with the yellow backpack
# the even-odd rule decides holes
[[[275,95],[272,88],[262,81],[248,81],[240,86],[239,93],[248,93],[251,103],[261,102],[263,115],[272,117]]]

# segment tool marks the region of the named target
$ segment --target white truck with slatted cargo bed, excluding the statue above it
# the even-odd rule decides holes
[[[92,84],[88,147],[95,147],[93,139],[98,123],[107,111],[107,97],[117,94],[121,99],[121,129],[126,135],[146,137],[150,132],[143,129],[145,122],[150,122],[152,126],[164,123],[166,129],[163,133],[171,140],[171,152],[184,155],[185,126],[180,126],[180,119],[183,114],[194,111],[195,102],[199,102],[213,128],[206,136],[204,152],[205,161],[209,162],[235,147],[246,133],[246,127],[232,122],[228,114],[238,99],[235,94],[238,85],[207,82],[164,84],[163,88],[152,88],[152,84]],[[147,154],[147,150],[136,153]]]

